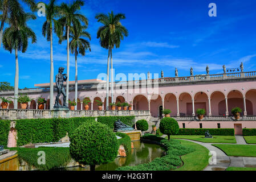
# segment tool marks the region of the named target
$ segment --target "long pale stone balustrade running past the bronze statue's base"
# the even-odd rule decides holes
[[[150,116],[149,110],[22,110],[22,109],[0,109],[0,118],[9,119],[37,119],[37,118],[74,118],[74,117],[98,117],[119,115],[136,117]]]

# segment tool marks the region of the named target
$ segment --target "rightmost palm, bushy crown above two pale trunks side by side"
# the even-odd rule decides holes
[[[108,90],[109,90],[109,55],[111,56],[111,102],[113,103],[113,57],[112,49],[120,47],[121,40],[124,36],[128,36],[127,29],[120,23],[121,19],[125,19],[124,14],[113,14],[113,11],[108,14],[97,14],[95,16],[98,22],[103,26],[99,27],[97,31],[97,39],[100,38],[101,47],[108,49],[108,62],[107,62],[107,110],[108,110]]]

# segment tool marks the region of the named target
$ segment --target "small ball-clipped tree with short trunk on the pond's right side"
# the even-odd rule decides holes
[[[173,118],[163,118],[160,121],[159,129],[161,133],[168,135],[168,140],[170,140],[170,135],[175,135],[178,133],[178,122]]]

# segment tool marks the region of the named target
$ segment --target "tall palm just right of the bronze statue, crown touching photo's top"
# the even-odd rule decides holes
[[[67,40],[67,96],[66,96],[66,106],[68,106],[68,92],[69,92],[69,75],[70,75],[70,27],[81,26],[81,23],[86,24],[88,26],[88,19],[86,16],[79,14],[78,10],[81,9],[81,6],[84,5],[82,0],[76,0],[72,3],[72,5],[67,5],[66,3],[62,3],[58,8],[58,13],[60,16],[59,22],[62,24],[63,28],[66,28],[66,40]],[[63,39],[60,38],[59,43],[62,43]]]

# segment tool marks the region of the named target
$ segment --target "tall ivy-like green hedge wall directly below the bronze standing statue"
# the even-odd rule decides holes
[[[28,143],[58,142],[67,133],[71,135],[83,122],[90,121],[95,121],[95,118],[19,119],[15,126],[18,133],[17,146]]]

